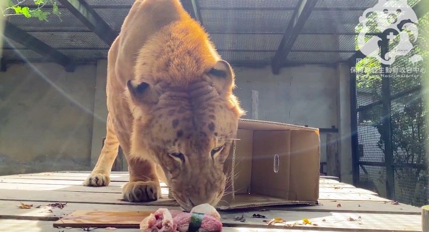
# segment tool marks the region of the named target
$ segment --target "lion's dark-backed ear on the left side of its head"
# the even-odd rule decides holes
[[[158,103],[159,93],[146,82],[129,80],[127,81],[127,88],[128,91],[130,91],[130,96],[135,103]]]

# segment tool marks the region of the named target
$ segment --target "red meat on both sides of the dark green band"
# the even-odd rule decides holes
[[[180,213],[177,214],[174,218],[174,225],[177,226],[177,231],[186,232],[189,228],[189,222],[191,221],[192,213]],[[222,222],[220,222],[216,217],[204,214],[203,221],[201,226],[198,229],[198,232],[220,232],[222,231]]]

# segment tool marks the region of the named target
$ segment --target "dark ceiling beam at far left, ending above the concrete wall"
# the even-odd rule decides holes
[[[10,22],[6,22],[4,35],[9,39],[39,53],[40,55],[50,57],[54,62],[63,65],[66,71],[73,72],[75,70],[76,65],[71,58],[21,30]]]

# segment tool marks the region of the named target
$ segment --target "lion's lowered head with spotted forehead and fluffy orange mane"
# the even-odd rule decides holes
[[[223,164],[244,114],[232,94],[231,66],[192,26],[169,27],[167,35],[148,41],[134,80],[127,82],[134,118],[131,153],[145,153],[162,167],[186,210],[214,206],[223,196]]]

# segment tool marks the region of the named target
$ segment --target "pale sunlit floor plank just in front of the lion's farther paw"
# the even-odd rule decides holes
[[[117,186],[87,187],[82,185],[45,185],[45,184],[15,184],[0,182],[0,189],[20,189],[38,191],[67,191],[67,192],[93,192],[93,193],[122,193]],[[161,187],[161,194],[167,197],[168,188]]]

